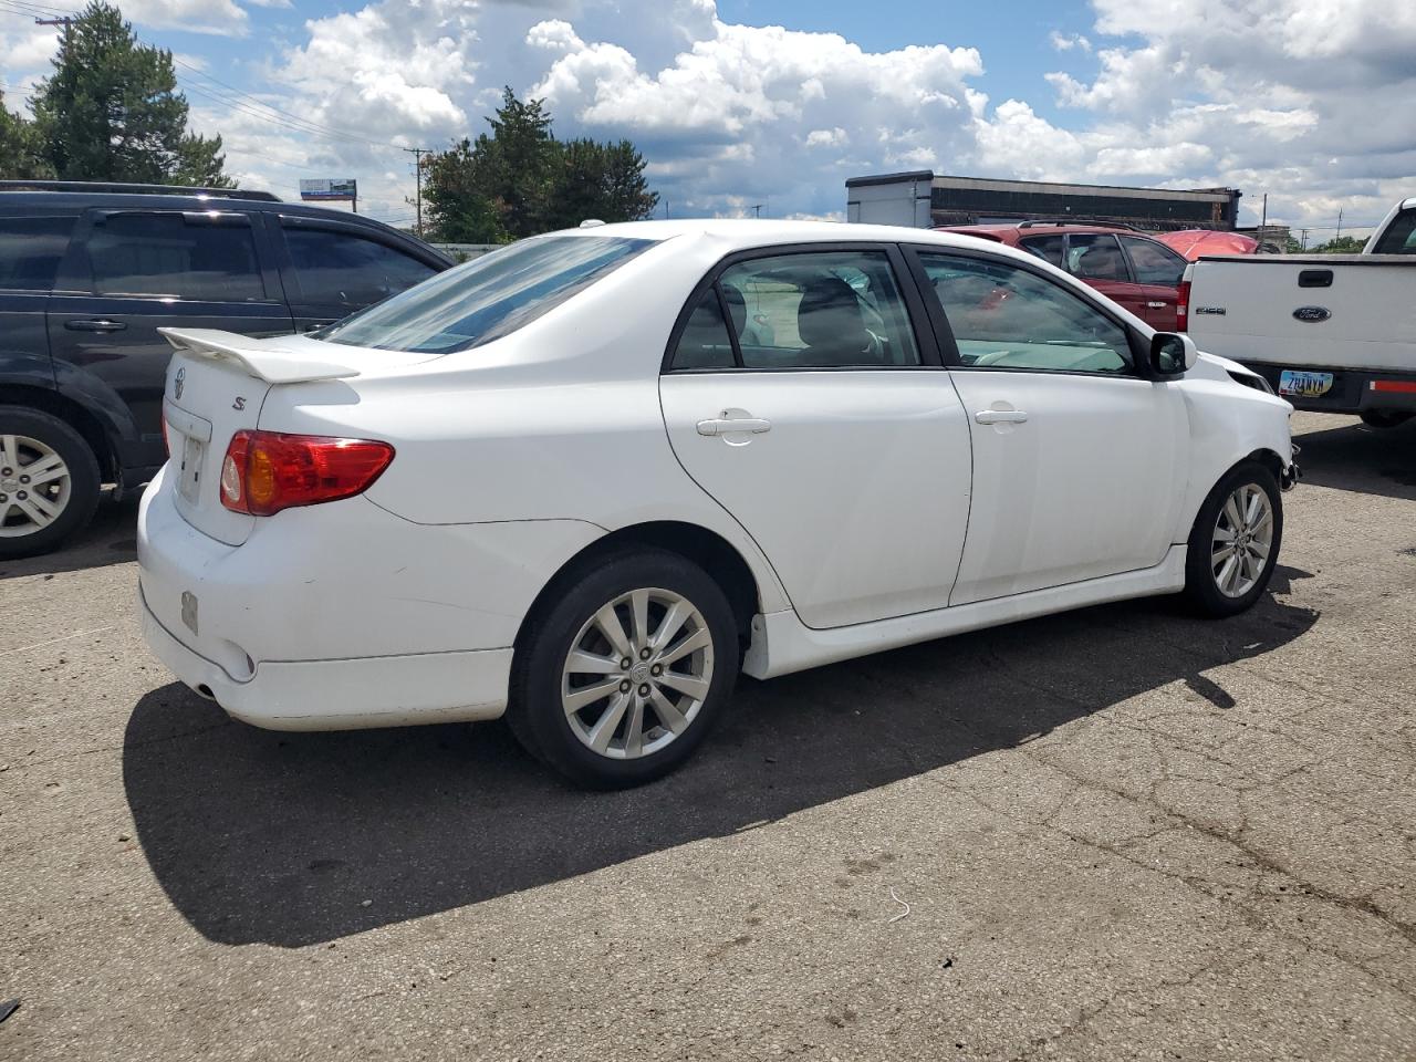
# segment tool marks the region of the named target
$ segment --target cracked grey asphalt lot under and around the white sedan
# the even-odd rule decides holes
[[[1410,1062],[1416,425],[1294,426],[1250,613],[743,680],[613,794],[501,724],[227,719],[108,504],[0,562],[0,1059]]]

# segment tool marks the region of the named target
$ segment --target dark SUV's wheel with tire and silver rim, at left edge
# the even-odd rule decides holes
[[[31,481],[40,476],[50,479]],[[0,405],[0,559],[47,554],[82,531],[102,486],[98,459],[74,428]]]

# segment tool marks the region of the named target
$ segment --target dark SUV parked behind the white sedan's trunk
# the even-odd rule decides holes
[[[346,317],[452,261],[269,193],[0,181],[0,558],[82,528],[166,460],[166,324],[249,336]]]

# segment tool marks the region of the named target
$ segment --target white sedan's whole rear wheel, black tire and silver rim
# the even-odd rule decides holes
[[[518,640],[513,733],[532,756],[592,789],[674,770],[707,736],[738,678],[736,624],[722,589],[678,554],[646,548],[596,558],[551,593]]]

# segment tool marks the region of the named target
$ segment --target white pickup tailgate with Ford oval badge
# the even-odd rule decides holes
[[[1242,362],[1416,372],[1416,256],[1247,255],[1191,268],[1189,334]]]

